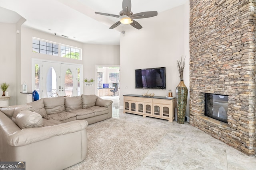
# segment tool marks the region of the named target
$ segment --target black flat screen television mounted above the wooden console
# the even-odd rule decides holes
[[[165,67],[135,70],[136,89],[166,89]]]

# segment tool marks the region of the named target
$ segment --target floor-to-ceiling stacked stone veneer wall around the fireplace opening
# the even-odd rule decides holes
[[[190,124],[255,154],[255,0],[190,0]],[[228,123],[204,116],[228,95]]]

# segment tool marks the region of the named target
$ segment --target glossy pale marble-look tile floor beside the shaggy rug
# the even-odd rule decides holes
[[[108,99],[114,101],[112,117],[147,124],[152,130],[162,127],[167,131],[136,170],[256,170],[256,156],[247,156],[188,122],[170,123],[123,113],[119,109],[118,97]]]

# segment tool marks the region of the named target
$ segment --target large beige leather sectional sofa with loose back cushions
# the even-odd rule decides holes
[[[0,108],[0,161],[26,170],[57,170],[83,161],[88,124],[112,117],[112,101],[95,95],[42,98]]]

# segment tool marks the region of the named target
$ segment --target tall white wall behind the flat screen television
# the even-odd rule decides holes
[[[121,108],[122,95],[142,95],[148,91],[135,89],[135,69],[166,67],[166,90],[149,90],[149,93],[166,96],[170,89],[175,95],[176,86],[180,82],[177,60],[186,56],[184,83],[189,88],[189,1],[185,5],[161,12],[156,17],[137,21],[142,29],[127,25],[126,33],[120,36]]]

